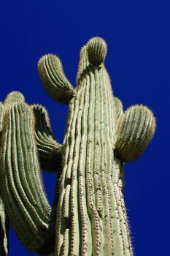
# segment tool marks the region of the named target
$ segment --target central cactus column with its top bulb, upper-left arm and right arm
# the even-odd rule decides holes
[[[57,56],[39,61],[47,93],[70,103],[56,224],[58,256],[133,255],[123,200],[123,162],[144,151],[155,131],[155,118],[142,105],[123,113],[104,67],[106,54],[107,45],[99,37],[82,48],[76,89],[63,75]]]

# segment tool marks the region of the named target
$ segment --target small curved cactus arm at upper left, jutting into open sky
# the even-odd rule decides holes
[[[39,76],[47,94],[55,101],[69,103],[74,97],[74,88],[64,75],[61,60],[58,56],[47,54],[38,62]]]

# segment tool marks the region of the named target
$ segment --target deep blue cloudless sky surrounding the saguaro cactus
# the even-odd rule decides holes
[[[90,37],[107,41],[105,61],[115,96],[124,109],[147,105],[157,119],[155,137],[142,157],[125,165],[125,203],[136,256],[169,255],[169,0],[1,1],[0,100],[21,91],[28,104],[45,105],[58,142],[68,106],[47,96],[37,61],[57,54],[75,86],[80,48]],[[45,173],[53,202],[55,174]],[[9,233],[9,256],[26,252]]]

